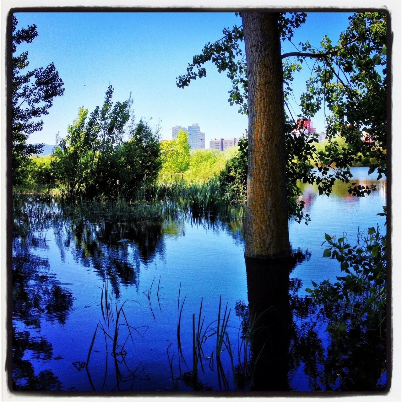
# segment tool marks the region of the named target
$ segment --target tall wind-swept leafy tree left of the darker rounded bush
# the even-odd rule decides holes
[[[113,105],[112,96],[113,87],[109,86],[102,107],[97,106],[90,115],[81,107],[55,150],[57,176],[70,198],[116,190],[120,166],[116,150],[123,142],[132,100],[130,96]]]

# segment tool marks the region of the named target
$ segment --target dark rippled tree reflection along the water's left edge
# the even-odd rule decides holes
[[[34,244],[39,244],[34,242]],[[29,247],[13,242],[12,261],[12,312],[14,319],[21,320],[27,328],[40,330],[41,319],[60,324],[66,322],[73,304],[72,292],[63,289],[52,275],[49,275],[47,260],[26,252]],[[31,359],[27,358],[31,355]],[[44,336],[32,336],[27,330],[19,330],[12,324],[12,389],[57,391],[62,384],[50,369],[39,371],[32,359],[49,361],[53,347]]]

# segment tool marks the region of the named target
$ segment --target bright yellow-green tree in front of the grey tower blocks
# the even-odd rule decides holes
[[[175,139],[161,144],[162,173],[183,173],[190,165],[189,135],[180,130]]]

